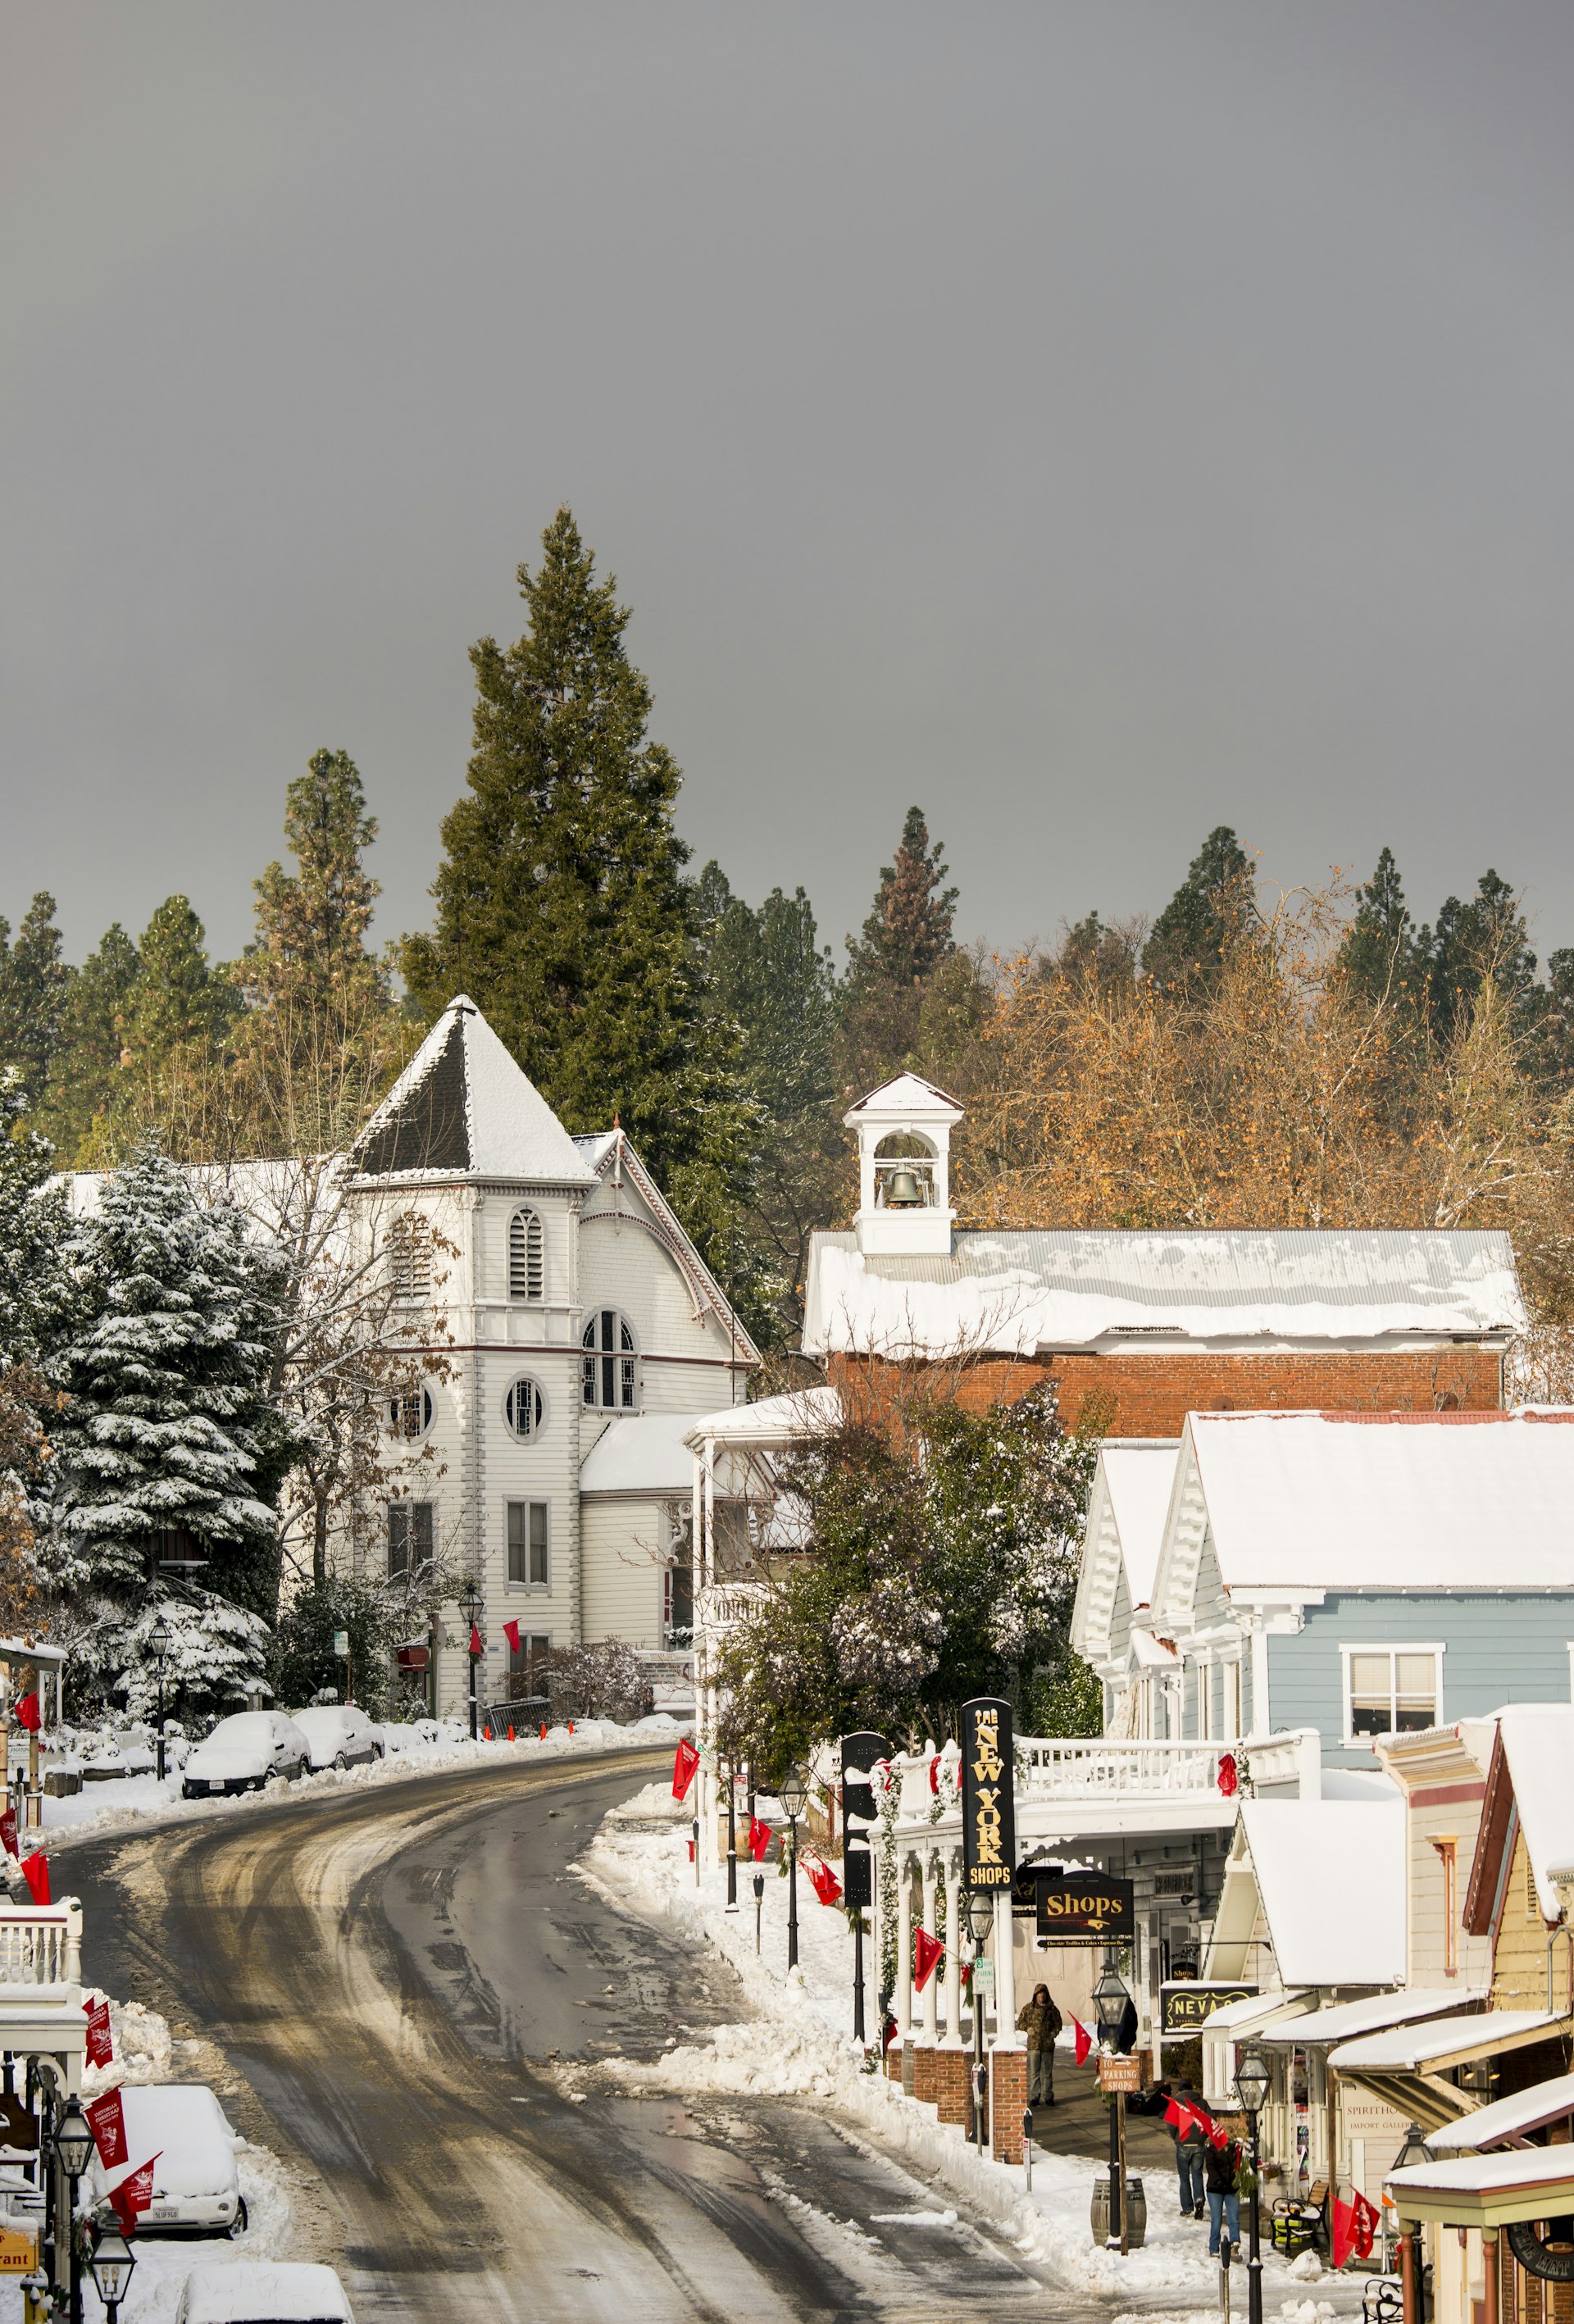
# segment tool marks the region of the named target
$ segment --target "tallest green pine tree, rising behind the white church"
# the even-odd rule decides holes
[[[749,1109],[704,1006],[679,769],[646,734],[616,581],[595,579],[567,509],[518,590],[525,634],[470,653],[470,792],[444,818],[437,927],[405,941],[405,976],[428,1016],[470,992],[570,1129],[618,1113],[725,1257]]]

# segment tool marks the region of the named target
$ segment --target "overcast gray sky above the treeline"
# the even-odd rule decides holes
[[[567,500],[681,827],[839,939],[1214,823],[1574,941],[1574,9],[0,0],[0,911],[72,955],[358,760],[423,925]]]

